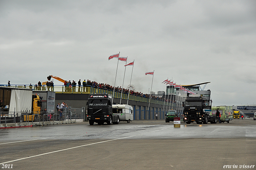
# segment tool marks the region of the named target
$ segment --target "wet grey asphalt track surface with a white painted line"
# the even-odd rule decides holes
[[[0,129],[0,152],[1,165],[18,170],[223,169],[231,164],[239,169],[256,165],[256,121],[174,128],[164,120],[134,120]]]

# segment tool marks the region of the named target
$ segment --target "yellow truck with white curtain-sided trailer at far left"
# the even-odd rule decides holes
[[[32,89],[0,87],[0,101],[1,123],[40,119],[40,98],[32,94]]]

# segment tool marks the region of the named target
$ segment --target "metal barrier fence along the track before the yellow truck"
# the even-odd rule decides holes
[[[84,119],[84,109],[64,108],[63,112],[0,112],[0,123],[51,122]]]

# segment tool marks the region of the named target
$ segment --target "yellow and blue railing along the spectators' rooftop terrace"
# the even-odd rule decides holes
[[[0,85],[0,86],[7,86],[8,85]],[[27,89],[32,89],[32,90],[42,90],[42,91],[53,91],[56,93],[66,93],[66,94],[93,94],[93,93],[106,93],[106,94],[111,94],[114,98],[121,98],[121,93],[120,92],[114,92],[112,90],[105,90],[102,88],[94,88],[92,86],[86,86],[86,87],[66,87],[64,85],[54,85],[51,87],[47,87],[46,85],[42,86],[36,86],[36,85],[11,85],[9,87],[16,87],[16,88],[27,88]],[[128,94],[122,94],[122,99],[128,100]],[[142,97],[142,96],[136,96],[133,94],[129,95],[129,100],[137,101],[137,102],[149,102],[149,98]],[[165,105],[165,106],[174,106],[176,107],[176,103],[173,102],[164,102],[163,100],[158,100],[151,98],[150,103],[152,104],[160,104],[160,105]]]

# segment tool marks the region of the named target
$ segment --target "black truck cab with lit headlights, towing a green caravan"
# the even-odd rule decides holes
[[[196,122],[197,124],[217,123],[216,116],[210,115],[212,111],[212,102],[207,100],[205,96],[190,94],[183,102],[184,118],[187,124]]]

